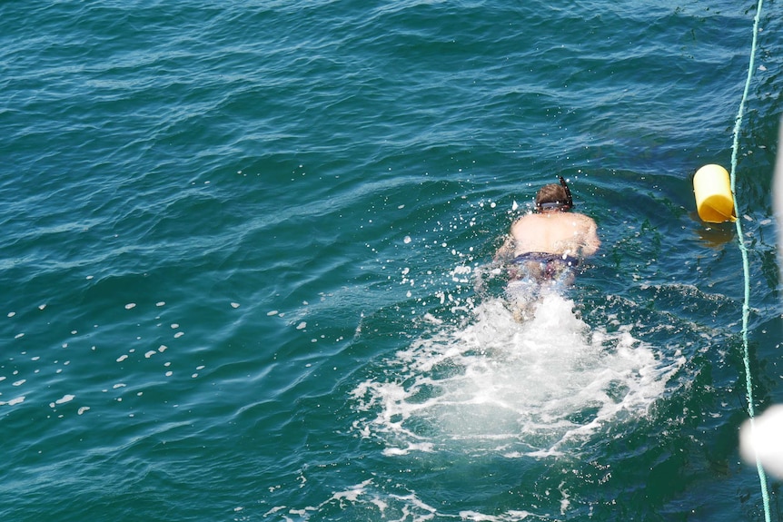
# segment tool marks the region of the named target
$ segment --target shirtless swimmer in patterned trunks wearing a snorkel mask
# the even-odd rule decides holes
[[[536,212],[511,225],[495,261],[508,269],[507,293],[512,302],[530,304],[541,286],[569,285],[580,263],[599,250],[596,222],[570,212],[573,206],[569,186],[560,177],[560,184],[540,188]],[[530,288],[531,283],[535,288]]]

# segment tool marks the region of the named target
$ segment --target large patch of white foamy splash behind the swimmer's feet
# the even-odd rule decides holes
[[[630,327],[591,330],[546,294],[525,322],[487,300],[467,327],[438,325],[352,391],[353,428],[387,455],[439,448],[509,458],[578,449],[602,427],[647,414],[684,362],[661,361]]]

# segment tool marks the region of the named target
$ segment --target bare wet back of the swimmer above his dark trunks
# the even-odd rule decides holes
[[[511,225],[514,256],[545,252],[582,259],[598,251],[596,229],[590,217],[576,212],[527,214]]]

